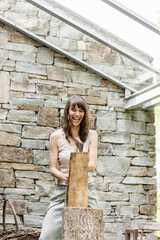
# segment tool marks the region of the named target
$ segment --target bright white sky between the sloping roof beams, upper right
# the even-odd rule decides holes
[[[144,18],[157,24],[160,0],[117,0]],[[160,62],[160,36],[113,9],[101,0],[57,0],[107,31],[124,39]],[[159,25],[160,26],[160,25]]]

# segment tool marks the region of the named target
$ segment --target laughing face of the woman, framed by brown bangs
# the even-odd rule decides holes
[[[69,107],[69,117],[71,119],[72,125],[75,127],[80,126],[82,119],[84,117],[84,110],[79,108],[77,105]]]

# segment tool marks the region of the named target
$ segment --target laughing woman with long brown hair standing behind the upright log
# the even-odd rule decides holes
[[[61,240],[62,208],[69,175],[70,155],[71,152],[77,151],[76,139],[83,143],[83,152],[88,152],[88,171],[93,172],[97,160],[97,133],[89,130],[87,105],[80,96],[72,96],[68,99],[64,109],[62,129],[50,135],[50,173],[57,179],[57,184],[44,218],[40,240]],[[97,207],[96,191],[90,174],[88,207]]]

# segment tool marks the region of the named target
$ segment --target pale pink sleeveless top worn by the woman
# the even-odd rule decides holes
[[[70,162],[70,156],[72,152],[76,152],[77,147],[76,145],[70,145],[69,142],[66,140],[65,135],[62,131],[62,129],[59,129],[59,137],[58,137],[58,168],[62,173],[69,174],[69,162]],[[77,140],[80,141],[78,138]],[[89,151],[89,143],[90,143],[90,137],[88,134],[88,137],[83,144],[83,152]],[[88,183],[92,182],[92,176],[90,173],[88,173]],[[59,185],[66,185],[65,181],[59,180],[57,184]]]

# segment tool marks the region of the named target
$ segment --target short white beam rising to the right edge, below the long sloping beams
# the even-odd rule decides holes
[[[141,105],[144,108],[147,106],[144,105],[145,103],[158,99],[158,97],[160,97],[160,83],[153,84],[125,98],[125,109],[133,109]]]

